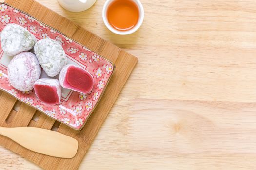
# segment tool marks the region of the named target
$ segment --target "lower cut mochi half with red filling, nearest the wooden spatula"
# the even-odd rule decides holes
[[[50,105],[59,104],[61,86],[58,79],[39,79],[34,84],[34,90],[41,102]]]

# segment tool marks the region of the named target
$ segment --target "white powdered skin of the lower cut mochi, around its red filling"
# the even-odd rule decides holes
[[[56,87],[57,89],[57,95],[59,98],[59,102],[60,102],[60,98],[61,98],[61,86],[59,84],[59,80],[58,79],[48,79],[48,78],[42,78],[42,79],[38,79],[35,83],[35,85],[47,85],[47,86],[51,86],[51,87]],[[36,94],[37,95],[37,94]]]

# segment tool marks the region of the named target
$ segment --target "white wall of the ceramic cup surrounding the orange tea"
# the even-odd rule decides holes
[[[141,26],[143,19],[144,19],[144,8],[141,4],[141,2],[139,0],[132,0],[135,2],[135,4],[138,6],[138,10],[139,10],[139,19],[138,19],[138,23],[131,29],[131,30],[127,30],[127,31],[118,31],[116,29],[114,29],[108,22],[108,18],[107,18],[107,10],[109,7],[109,4],[111,2],[113,2],[114,0],[107,0],[103,6],[103,10],[102,10],[102,18],[104,21],[104,24],[106,25],[106,27],[112,31],[115,34],[119,34],[119,35],[128,35],[128,34],[132,34],[134,32],[136,32],[139,27]]]

